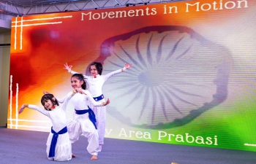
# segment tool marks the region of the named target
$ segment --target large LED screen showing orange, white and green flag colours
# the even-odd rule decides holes
[[[42,90],[72,91],[64,63],[108,74],[105,137],[256,151],[256,1],[183,1],[12,19],[8,128],[49,131]],[[74,107],[67,108],[67,120]]]

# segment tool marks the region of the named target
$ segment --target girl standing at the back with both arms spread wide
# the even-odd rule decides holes
[[[72,66],[68,66],[67,63],[64,64],[65,69],[69,71],[71,74],[77,74],[77,72],[72,71]],[[112,71],[109,74],[102,75],[102,63],[93,62],[89,67],[89,71],[91,76],[83,75],[83,78],[86,80],[89,85],[89,92],[94,97],[95,101],[100,103],[105,102],[104,95],[102,94],[102,86],[105,81],[113,77],[116,74],[119,74],[126,69],[132,67],[132,63],[124,63],[123,69],[118,69],[117,71]],[[106,107],[105,106],[94,106],[93,104],[89,104],[91,109],[94,111],[97,120],[97,128],[99,133],[99,152],[102,151],[102,144],[104,144],[104,136],[105,136],[105,127],[106,127]]]

